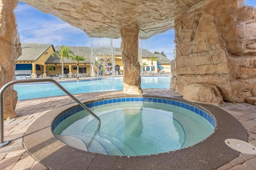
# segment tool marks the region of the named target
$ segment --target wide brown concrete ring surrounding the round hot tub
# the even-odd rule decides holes
[[[225,139],[239,139],[247,142],[247,132],[232,115],[217,106],[195,104],[182,97],[168,94],[147,93],[141,95],[112,95],[83,100],[90,103],[97,100],[122,97],[155,97],[176,100],[198,107],[214,117],[216,127],[212,135],[196,145],[165,153],[143,156],[110,156],[92,153],[70,147],[59,141],[52,133],[52,123],[64,112],[78,106],[68,104],[49,111],[39,117],[27,129],[24,136],[26,150],[49,169],[216,169],[237,156],[240,152],[225,144]]]

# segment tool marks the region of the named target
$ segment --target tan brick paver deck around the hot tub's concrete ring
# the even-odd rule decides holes
[[[180,96],[169,88],[147,89],[146,92],[155,94],[170,94]],[[122,91],[94,92],[74,95],[79,100],[122,94]],[[23,137],[26,129],[38,117],[54,108],[74,102],[68,96],[56,96],[52,98],[40,98],[18,101],[16,106],[17,118],[4,121],[4,140],[10,141],[9,145],[0,149],[1,170],[47,170],[48,168],[35,160],[23,146]],[[234,116],[245,127],[248,133],[248,142],[256,146],[256,106],[248,103],[227,103],[220,107]],[[53,160],[54,161],[54,160]],[[237,158],[218,168],[218,170],[250,170],[256,169],[256,155],[240,154]]]

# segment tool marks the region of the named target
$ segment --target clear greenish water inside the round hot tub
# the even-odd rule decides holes
[[[199,114],[163,103],[119,102],[90,109],[101,120],[98,132],[97,120],[83,110],[58,124],[54,135],[80,139],[90,152],[135,156],[189,147],[214,131]]]

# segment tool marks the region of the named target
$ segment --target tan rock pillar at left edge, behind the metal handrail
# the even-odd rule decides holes
[[[15,64],[21,55],[14,9],[18,0],[0,0],[0,87],[14,80]],[[4,93],[4,119],[16,117],[17,92],[13,86]]]

